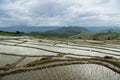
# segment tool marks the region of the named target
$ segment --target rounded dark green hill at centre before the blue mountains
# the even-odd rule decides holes
[[[88,32],[88,30],[85,28],[82,28],[82,27],[61,27],[61,28],[56,29],[56,30],[46,31],[46,32],[42,33],[42,35],[44,35],[44,36],[70,37],[70,36],[80,34],[83,32]]]

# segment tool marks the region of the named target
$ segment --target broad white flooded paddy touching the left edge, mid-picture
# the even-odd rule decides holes
[[[43,50],[7,45],[0,45],[0,52],[20,55],[56,55],[56,53],[47,52]]]

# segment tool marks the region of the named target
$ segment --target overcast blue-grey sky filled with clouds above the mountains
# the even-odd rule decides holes
[[[0,27],[114,26],[120,0],[0,0]]]

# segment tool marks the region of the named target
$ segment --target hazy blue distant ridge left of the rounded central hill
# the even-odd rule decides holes
[[[25,25],[18,25],[18,26],[9,26],[9,27],[0,27],[0,31],[7,31],[7,32],[45,32],[48,30],[55,30],[58,29],[58,26],[25,26]]]

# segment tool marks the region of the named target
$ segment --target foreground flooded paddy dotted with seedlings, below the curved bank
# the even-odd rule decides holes
[[[120,80],[120,75],[103,66],[84,64],[18,73],[2,80]]]

